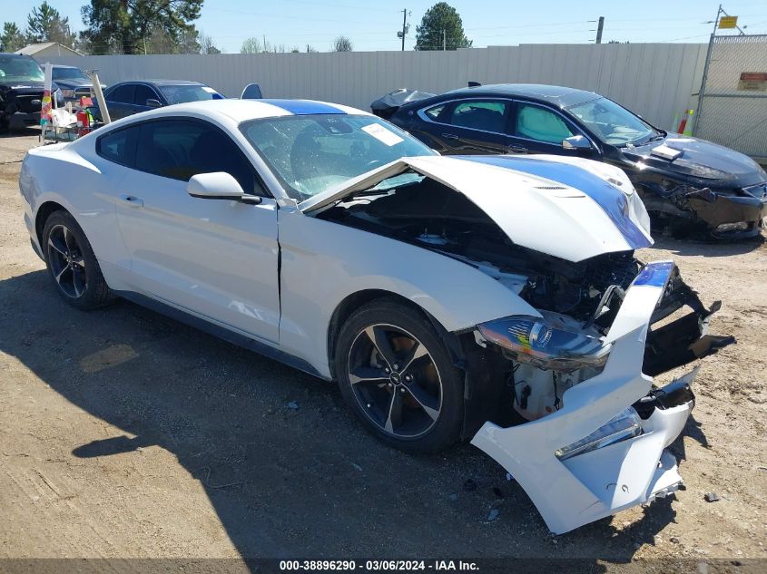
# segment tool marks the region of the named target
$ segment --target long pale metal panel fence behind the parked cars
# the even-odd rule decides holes
[[[665,129],[697,107],[705,44],[523,44],[454,52],[112,55],[51,58],[98,69],[104,83],[167,78],[239,96],[257,82],[265,97],[307,98],[369,110],[386,92],[446,92],[479,83],[550,83],[599,92]]]

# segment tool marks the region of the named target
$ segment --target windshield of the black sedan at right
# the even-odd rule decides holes
[[[607,98],[579,103],[568,108],[568,111],[600,140],[618,147],[627,143],[640,145],[659,135],[659,132],[642,118]]]

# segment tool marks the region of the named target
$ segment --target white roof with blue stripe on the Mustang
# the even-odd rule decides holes
[[[211,118],[221,123],[239,124],[261,118],[276,118],[290,115],[319,115],[325,113],[372,115],[338,103],[314,100],[202,100],[200,102],[176,103],[142,112],[141,118],[160,118],[172,115],[192,115]],[[139,119],[139,114],[129,116]],[[126,118],[127,119],[127,118]],[[120,121],[122,122],[122,120]]]

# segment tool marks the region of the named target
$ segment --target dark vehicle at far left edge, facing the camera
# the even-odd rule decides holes
[[[45,74],[31,56],[0,54],[0,131],[9,128],[12,117],[26,125],[40,123]],[[64,104],[61,90],[54,83],[53,97]]]

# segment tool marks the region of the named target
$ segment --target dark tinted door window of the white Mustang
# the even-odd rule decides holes
[[[141,126],[136,170],[172,180],[189,181],[198,173],[226,171],[245,193],[267,195],[231,138],[204,122],[162,120]]]

